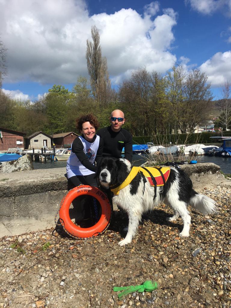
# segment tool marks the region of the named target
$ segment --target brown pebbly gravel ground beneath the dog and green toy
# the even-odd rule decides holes
[[[53,230],[0,239],[0,307],[222,307],[231,306],[231,189],[204,189],[218,213],[189,208],[190,237],[182,221],[165,221],[165,205],[144,216],[135,239],[120,247],[127,217],[114,211],[107,232],[85,240]],[[118,300],[114,286],[157,281],[152,293]]]

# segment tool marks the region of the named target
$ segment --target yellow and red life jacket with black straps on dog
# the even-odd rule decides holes
[[[148,171],[147,171],[147,170]],[[170,173],[170,168],[169,167],[160,167],[160,166],[155,166],[155,167],[132,167],[130,173],[124,180],[124,182],[117,187],[111,186],[110,189],[114,193],[114,195],[118,195],[120,190],[127,185],[129,185],[132,180],[135,178],[135,176],[138,174],[138,172],[142,172],[145,176],[145,178],[149,181],[149,183],[152,186],[164,186],[166,181],[168,180],[168,176]],[[153,183],[153,178],[154,183]]]

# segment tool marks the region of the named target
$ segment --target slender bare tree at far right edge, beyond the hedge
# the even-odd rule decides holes
[[[221,114],[219,119],[221,124],[225,126],[225,130],[229,128],[231,124],[231,81],[226,81],[221,84]]]

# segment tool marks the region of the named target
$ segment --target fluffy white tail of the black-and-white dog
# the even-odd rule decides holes
[[[217,212],[216,202],[211,198],[198,194],[195,192],[194,196],[190,198],[189,204],[197,211],[203,214],[210,214]]]

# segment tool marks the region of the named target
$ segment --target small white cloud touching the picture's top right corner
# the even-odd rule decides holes
[[[190,3],[193,10],[202,14],[212,14],[217,10],[224,10],[225,14],[231,12],[230,0],[185,0],[185,3]]]

